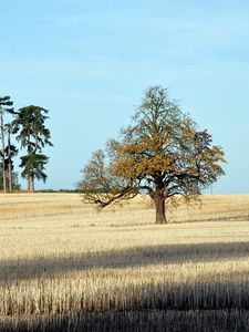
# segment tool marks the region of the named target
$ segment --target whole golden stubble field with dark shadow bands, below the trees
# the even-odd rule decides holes
[[[249,331],[249,195],[154,218],[1,194],[0,331]]]

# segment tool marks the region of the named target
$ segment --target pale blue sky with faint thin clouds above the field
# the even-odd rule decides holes
[[[212,193],[249,191],[249,1],[0,0],[0,95],[50,110],[38,188],[73,188],[162,84],[225,148]]]

